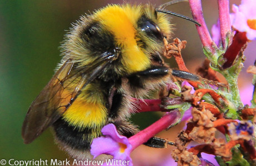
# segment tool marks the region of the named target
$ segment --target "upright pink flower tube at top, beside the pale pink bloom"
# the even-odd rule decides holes
[[[229,0],[218,0],[218,6],[219,6],[219,24],[220,24],[221,42],[222,42],[223,48],[226,48],[228,46],[228,45],[225,45],[227,33],[231,32],[231,25],[230,25],[230,18],[229,18]]]

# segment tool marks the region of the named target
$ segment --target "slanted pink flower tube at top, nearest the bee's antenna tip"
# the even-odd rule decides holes
[[[190,9],[193,15],[193,18],[201,24],[201,27],[196,25],[196,29],[198,30],[199,37],[203,46],[211,50],[211,53],[215,53],[213,49],[213,40],[211,39],[209,30],[205,24],[203,10],[200,0],[189,0]],[[217,47],[217,46],[215,46]]]

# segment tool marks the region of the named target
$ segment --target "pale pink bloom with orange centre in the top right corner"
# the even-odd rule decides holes
[[[230,14],[231,24],[239,32],[246,32],[247,39],[256,39],[256,3],[255,0],[242,0],[239,6],[233,4]]]

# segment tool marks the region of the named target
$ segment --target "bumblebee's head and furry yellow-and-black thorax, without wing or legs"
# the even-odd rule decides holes
[[[164,38],[171,35],[169,17],[150,5],[112,4],[81,20],[67,35],[64,53],[80,66],[90,65],[105,52],[120,50],[111,70],[131,74],[151,65],[151,56],[162,51]]]

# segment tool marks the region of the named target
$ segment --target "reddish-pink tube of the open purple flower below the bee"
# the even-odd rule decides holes
[[[149,127],[135,134],[134,136],[129,138],[129,142],[132,146],[131,151],[140,146],[141,144],[147,142],[150,138],[154,137],[155,134],[163,131],[171,125],[175,125],[180,120],[180,112],[179,111],[171,111],[170,113],[166,113],[160,120],[156,121]]]

